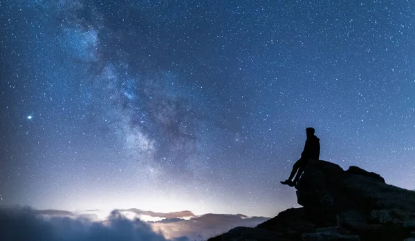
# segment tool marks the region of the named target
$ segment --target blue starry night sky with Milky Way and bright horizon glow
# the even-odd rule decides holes
[[[415,189],[413,1],[0,1],[0,206],[273,217],[321,160]]]

